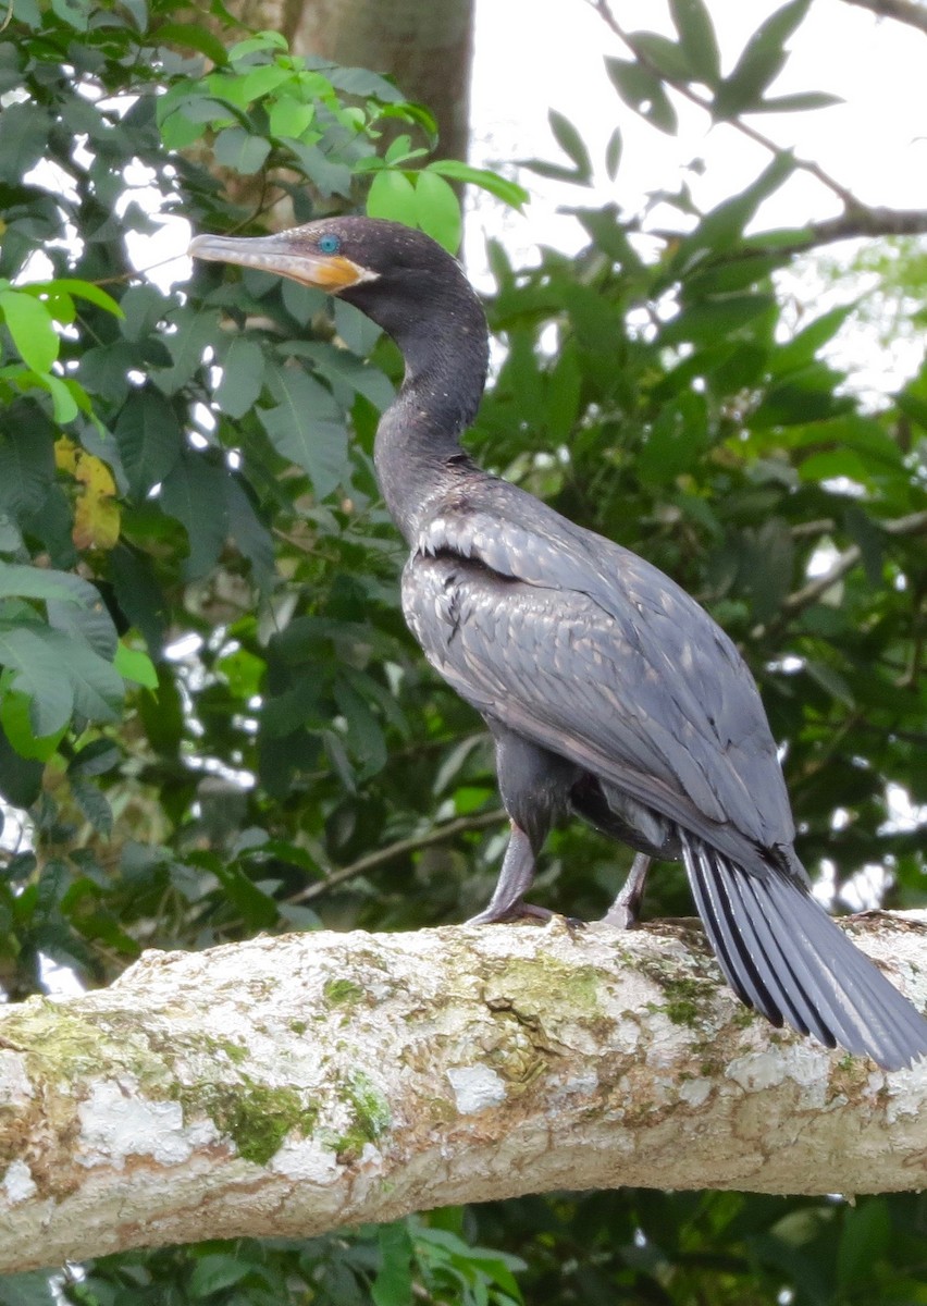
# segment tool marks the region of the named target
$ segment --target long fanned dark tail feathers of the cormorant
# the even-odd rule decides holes
[[[774,870],[751,875],[692,835],[682,832],[682,841],[712,947],[748,1007],[885,1070],[927,1054],[927,1020],[800,880]]]

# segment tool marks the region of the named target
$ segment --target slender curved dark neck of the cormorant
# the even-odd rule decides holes
[[[473,422],[486,384],[488,338],[477,295],[453,265],[432,294],[377,306],[379,324],[402,351],[406,374],[376,434],[373,462],[386,507],[411,542],[430,505],[469,461],[460,436]],[[371,313],[373,316],[373,313]]]

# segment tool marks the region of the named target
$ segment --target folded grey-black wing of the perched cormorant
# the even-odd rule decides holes
[[[760,849],[791,844],[749,671],[635,554],[527,496],[514,512],[449,511],[418,541],[403,609],[431,663],[480,712],[756,870]]]

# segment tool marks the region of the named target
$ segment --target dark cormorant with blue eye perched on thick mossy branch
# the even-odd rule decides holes
[[[885,1070],[924,1055],[927,1020],[812,896],[776,741],[730,637],[658,568],[462,448],[488,328],[460,263],[419,230],[359,215],[197,235],[189,253],[337,295],[402,354],[375,470],[409,546],[403,615],[486,721],[511,824],[473,922],[550,917],[525,895],[554,824],[581,818],[636,853],[607,921],[636,921],[652,859],[682,859],[747,1007]]]

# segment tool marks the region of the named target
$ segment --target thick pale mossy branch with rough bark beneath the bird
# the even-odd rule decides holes
[[[927,1006],[927,913],[847,926]],[[149,953],[0,1016],[0,1271],[551,1188],[919,1188],[927,1063],[746,1012],[687,927]]]

